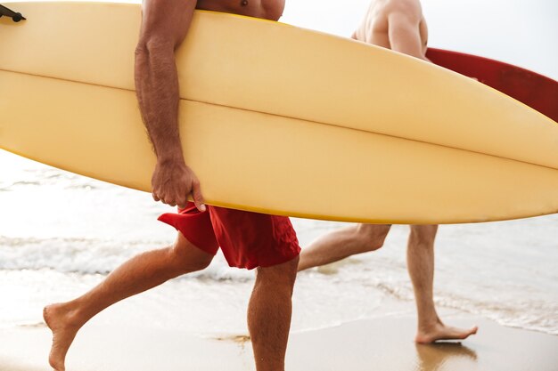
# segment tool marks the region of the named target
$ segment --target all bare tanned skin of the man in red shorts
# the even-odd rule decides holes
[[[198,209],[205,210],[200,181],[185,164],[177,126],[175,50],[188,33],[194,8],[278,20],[283,7],[284,0],[144,0],[141,36],[135,52],[135,84],[157,156],[152,176],[155,200],[185,206],[188,196],[192,196]],[[50,365],[55,371],[65,370],[66,354],[78,330],[100,311],[168,279],[203,270],[212,259],[212,255],[178,233],[172,246],[136,255],[86,294],[46,306],[45,323],[53,332]],[[248,327],[258,371],[284,370],[298,262],[297,257],[257,270]]]

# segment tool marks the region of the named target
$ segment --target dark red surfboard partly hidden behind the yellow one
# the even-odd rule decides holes
[[[467,77],[476,77],[558,122],[558,82],[498,60],[429,48],[426,56],[433,63]]]

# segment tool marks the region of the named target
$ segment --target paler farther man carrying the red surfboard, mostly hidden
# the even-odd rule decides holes
[[[428,28],[419,0],[375,0],[352,38],[427,60]],[[337,262],[353,254],[377,250],[390,225],[358,224],[319,238],[300,254],[299,270]],[[413,282],[418,312],[417,343],[465,339],[477,327],[447,327],[433,300],[434,239],[437,225],[412,225],[407,246],[407,269]]]

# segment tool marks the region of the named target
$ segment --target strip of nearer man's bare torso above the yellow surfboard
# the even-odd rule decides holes
[[[284,6],[285,0],[198,0],[196,9],[279,20]]]

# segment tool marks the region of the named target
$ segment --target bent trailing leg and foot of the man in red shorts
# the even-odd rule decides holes
[[[173,246],[139,254],[123,263],[91,291],[70,302],[48,305],[46,325],[53,331],[49,357],[56,371],[64,371],[64,359],[79,328],[115,302],[139,294],[185,273],[202,270],[213,259],[193,246],[181,233]]]

